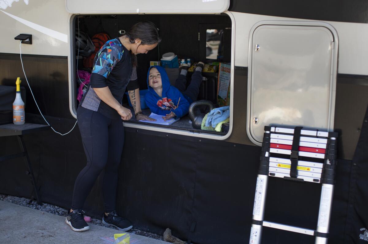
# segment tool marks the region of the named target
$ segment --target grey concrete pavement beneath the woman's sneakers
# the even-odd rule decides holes
[[[0,201],[0,243],[114,243],[114,234],[124,233],[88,223],[90,229],[75,232],[65,217]],[[130,234],[130,244],[167,244],[145,236]]]

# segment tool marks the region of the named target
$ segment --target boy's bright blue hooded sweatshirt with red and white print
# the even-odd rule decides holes
[[[153,67],[155,67],[161,74],[162,97],[159,96],[151,86],[149,86],[149,71]],[[144,99],[149,109],[151,109],[152,113],[166,116],[166,114],[169,114],[172,111],[176,114],[177,118],[181,118],[188,113],[190,105],[188,100],[176,87],[170,85],[169,77],[167,76],[164,68],[162,68],[161,66],[149,67],[147,73],[147,85],[149,92],[146,93]],[[177,107],[177,109],[174,110],[173,106],[176,106],[178,104],[179,98],[179,106]]]

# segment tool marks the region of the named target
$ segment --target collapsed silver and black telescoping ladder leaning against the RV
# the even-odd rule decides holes
[[[261,243],[263,226],[315,236],[315,244],[327,243],[335,179],[336,138],[337,132],[265,126],[250,244]],[[317,230],[263,220],[268,176],[322,183]]]

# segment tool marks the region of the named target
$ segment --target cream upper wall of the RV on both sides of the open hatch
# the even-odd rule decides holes
[[[216,1],[215,1],[216,2]],[[161,5],[160,5],[161,6]],[[41,0],[13,2],[11,7],[0,9],[1,53],[19,53],[19,41],[14,37],[20,33],[33,35],[33,44],[23,47],[25,54],[68,56],[70,49],[69,22],[71,14],[66,10],[64,1]],[[96,11],[95,14],[103,12]],[[136,13],[136,12],[135,12]],[[140,13],[143,13],[142,11]],[[179,12],[178,12],[179,13]],[[187,14],[182,11],[180,14]],[[231,11],[234,20],[239,23],[235,32],[235,66],[248,67],[248,40],[252,26],[262,20],[302,21],[304,19],[275,17],[268,15],[248,14]],[[311,20],[306,20],[311,21]],[[368,24],[325,21],[332,25],[340,39],[339,67],[340,74],[368,75],[367,59]],[[240,24],[241,23],[241,24]]]

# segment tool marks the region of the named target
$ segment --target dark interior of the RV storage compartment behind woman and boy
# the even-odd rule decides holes
[[[220,131],[218,131],[218,127],[217,131],[212,131],[198,128],[198,121],[195,121],[194,123],[194,120],[195,118],[203,118],[204,114],[210,111],[210,106],[208,104],[215,108],[230,105],[230,76],[228,76],[227,86],[225,84],[227,88],[226,97],[223,99],[221,96],[218,96],[219,86],[222,87],[222,90],[224,89],[224,84],[219,84],[219,70],[221,67],[230,67],[231,61],[231,20],[229,16],[225,14],[77,15],[74,19],[74,35],[80,35],[78,32],[84,32],[92,40],[96,40],[96,36],[98,38],[101,34],[107,34],[110,39],[113,39],[122,36],[125,30],[129,30],[132,25],[140,21],[152,21],[158,27],[160,37],[162,38],[162,41],[155,49],[151,50],[147,54],[137,55],[137,77],[141,95],[142,112],[146,115],[151,114],[151,111],[144,102],[144,93],[148,91],[146,83],[148,68],[151,65],[156,65],[156,63],[152,62],[162,61],[161,59],[165,53],[174,53],[178,59],[177,61],[172,60],[173,62],[178,63],[176,65],[173,63],[167,64],[167,62],[165,64],[163,64],[163,62],[158,63],[165,68],[171,85],[174,85],[174,82],[179,75],[179,68],[177,67],[180,65],[180,62],[183,63],[183,61],[185,61],[189,66],[194,67],[199,61],[207,64],[202,71],[203,81],[201,83],[197,99],[206,100],[207,102],[198,103],[198,106],[195,106],[192,109],[193,113],[191,113],[191,117],[187,114],[171,125],[152,124],[135,120],[134,110],[130,106],[130,101],[127,95],[128,93],[126,91],[123,98],[123,106],[130,108],[133,114],[132,119],[129,122],[192,131],[196,133],[226,134],[229,131],[229,123],[223,123],[220,126]],[[76,57],[74,60],[74,67],[77,67],[74,70],[74,77],[76,77],[74,91],[75,103],[78,106],[78,92],[81,93],[81,91],[86,90],[86,86],[83,84],[84,79],[78,77],[78,74],[82,74],[80,73],[81,71],[91,73],[92,69],[91,67],[88,67],[91,66],[91,64],[88,64],[88,60],[86,60],[87,57],[81,55],[82,52],[78,52],[77,46],[74,50]],[[173,68],[171,68],[171,66],[173,66]],[[192,74],[193,73],[189,68],[187,74],[187,85],[190,83]],[[223,79],[224,78],[221,80]],[[82,89],[79,89],[79,86],[82,86]],[[201,124],[199,123],[199,126],[200,125]]]

